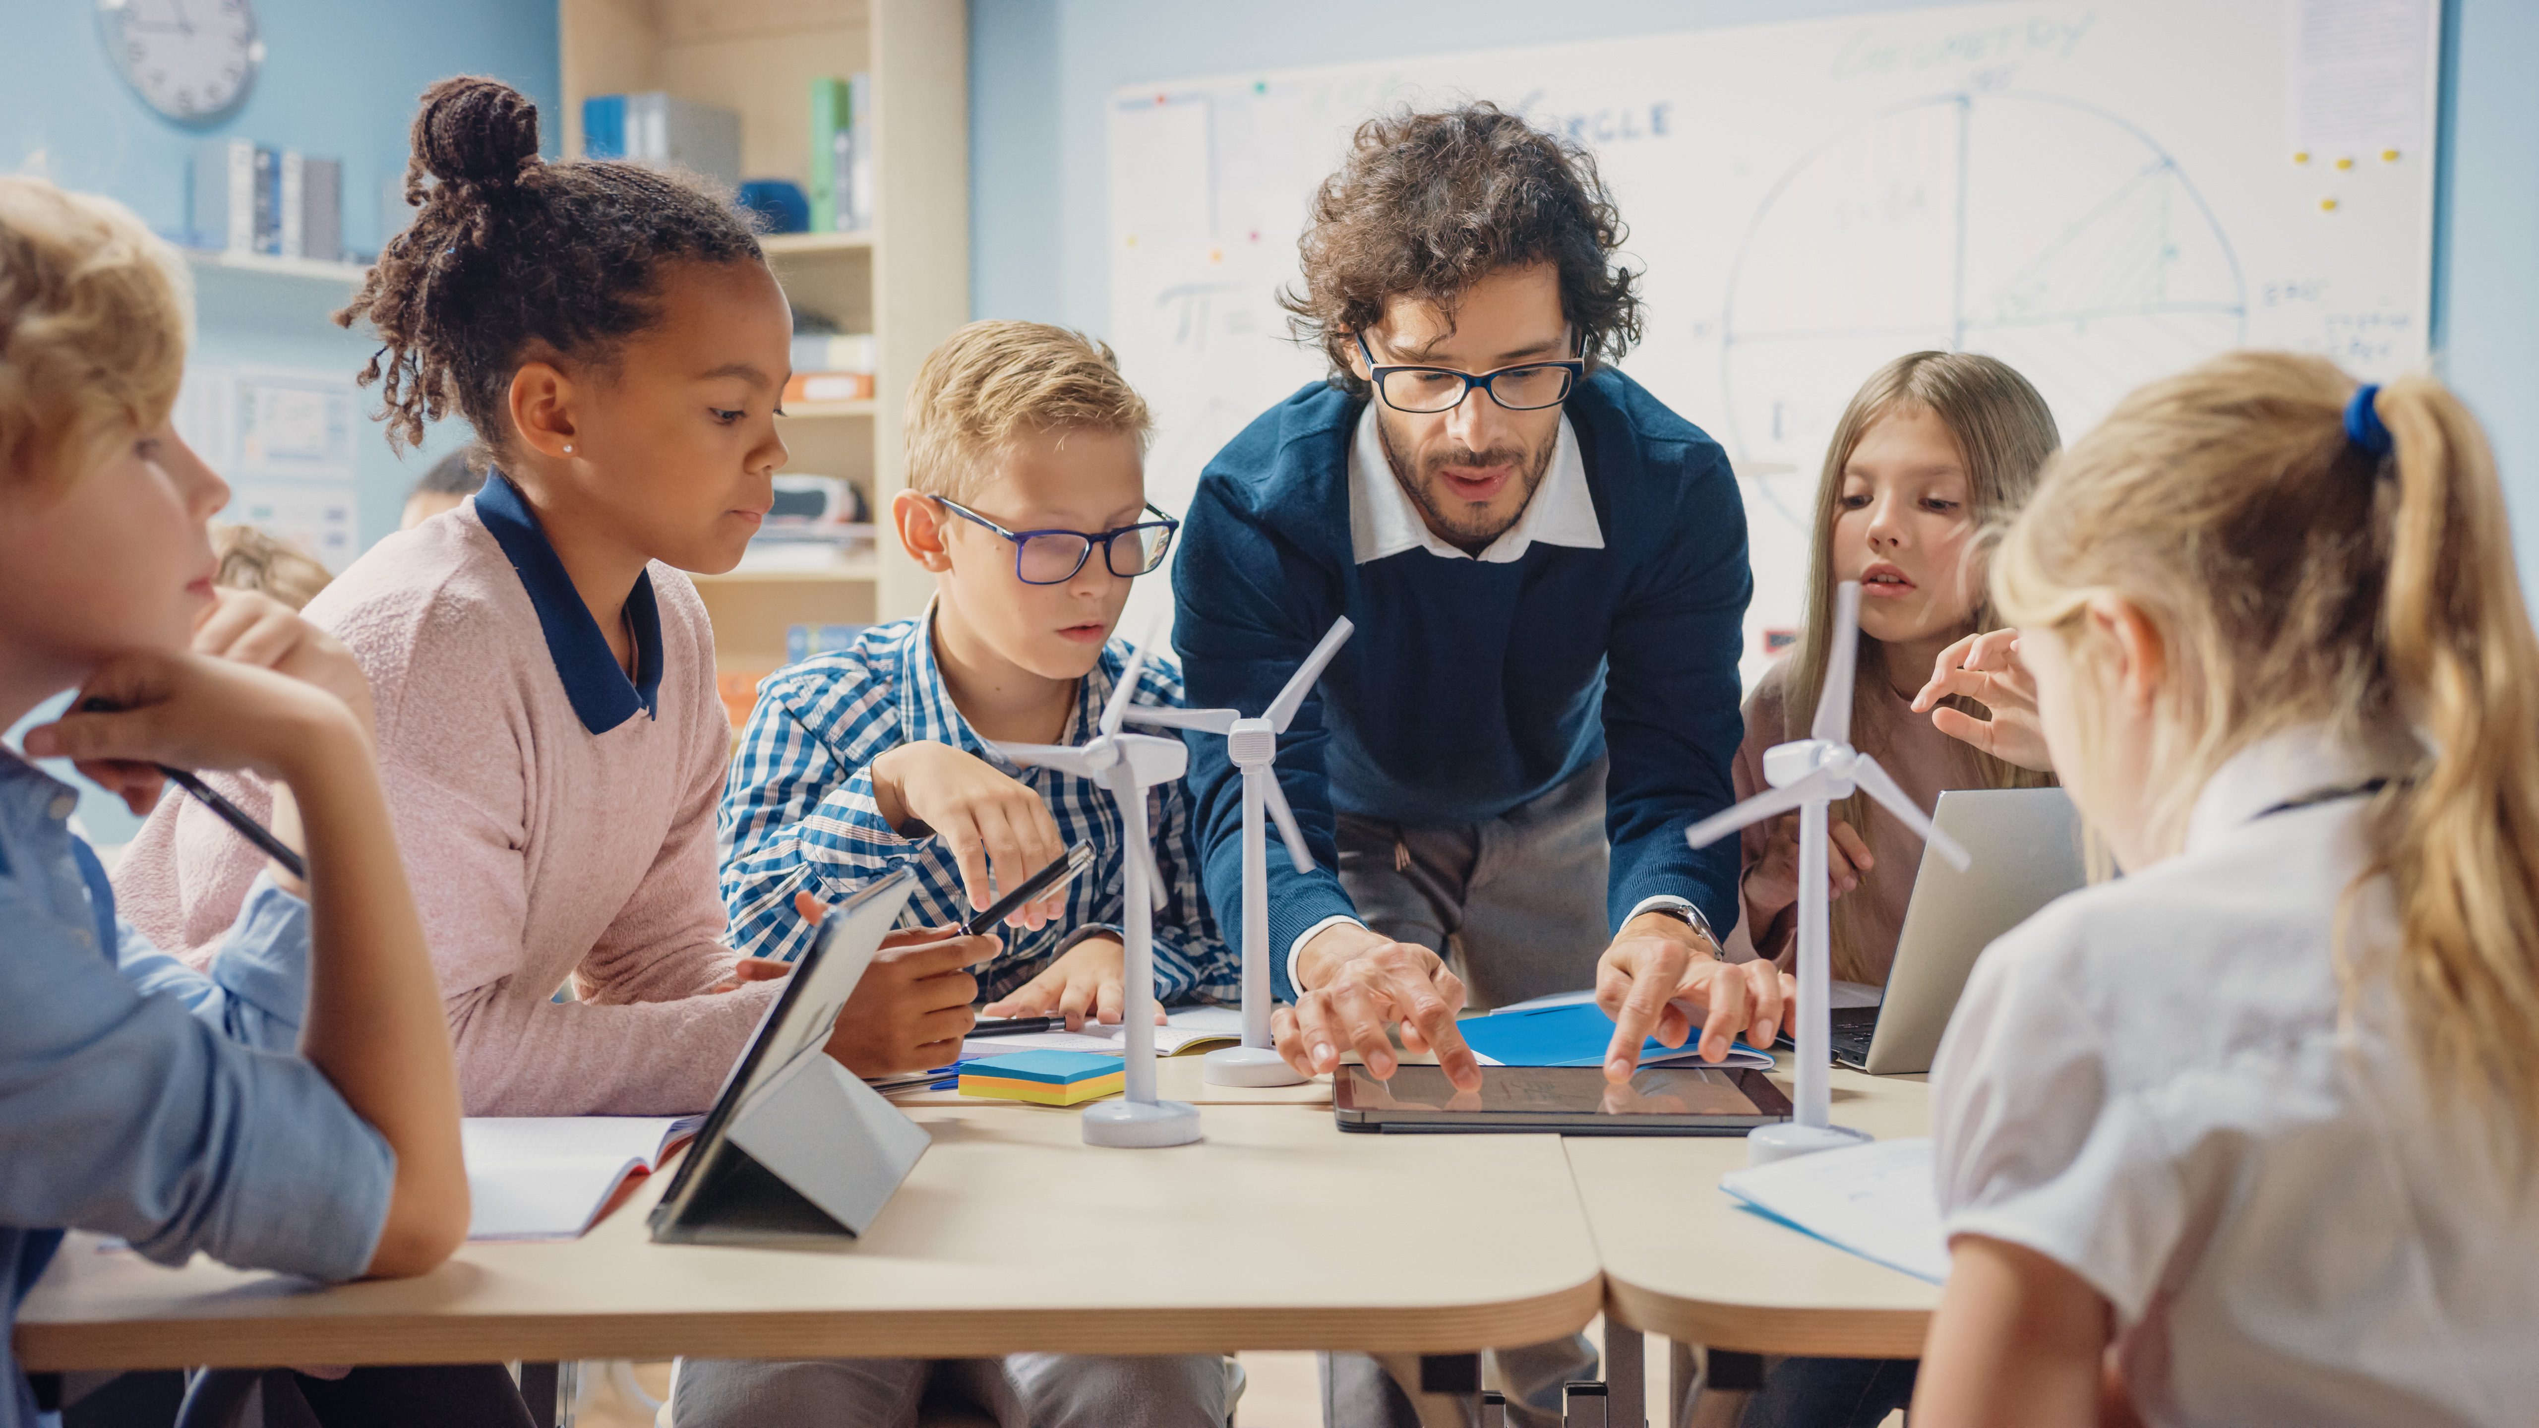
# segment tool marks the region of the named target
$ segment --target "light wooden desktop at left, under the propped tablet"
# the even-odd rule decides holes
[[[1214,1105],[1102,1151],[1071,1110],[912,1108],[934,1148],[843,1253],[653,1245],[668,1176],[561,1245],[312,1288],[76,1237],[18,1314],[28,1370],[670,1354],[1470,1352],[1584,1326],[1602,1273],[1554,1136],[1343,1136]]]

